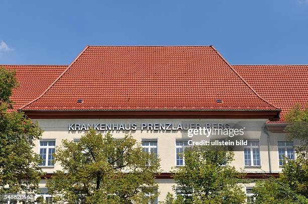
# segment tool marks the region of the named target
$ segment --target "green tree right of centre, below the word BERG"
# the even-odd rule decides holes
[[[174,179],[183,195],[173,198],[168,194],[165,202],[244,203],[246,196],[238,185],[239,173],[228,165],[233,157],[233,152],[220,147],[186,148],[185,166],[174,170]]]

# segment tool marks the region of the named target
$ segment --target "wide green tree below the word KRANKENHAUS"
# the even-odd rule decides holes
[[[91,129],[78,143],[62,140],[55,161],[63,170],[47,186],[58,203],[147,203],[158,195],[160,160],[128,134],[115,139]]]

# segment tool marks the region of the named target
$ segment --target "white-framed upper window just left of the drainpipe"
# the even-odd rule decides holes
[[[244,147],[245,166],[261,166],[259,141],[247,141]]]

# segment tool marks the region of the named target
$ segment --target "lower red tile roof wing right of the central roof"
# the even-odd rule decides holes
[[[282,109],[280,122],[290,108],[308,103],[308,65],[233,65],[266,100]]]

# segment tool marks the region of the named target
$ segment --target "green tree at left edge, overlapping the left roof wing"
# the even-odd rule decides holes
[[[34,192],[42,171],[40,157],[32,151],[42,135],[37,123],[24,113],[10,110],[17,87],[15,70],[0,68],[0,193]]]

